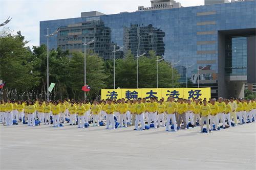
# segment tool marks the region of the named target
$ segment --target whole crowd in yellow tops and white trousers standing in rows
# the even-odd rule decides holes
[[[0,122],[12,126],[13,120],[28,126],[40,124],[59,127],[62,124],[77,125],[84,128],[88,123],[92,126],[105,125],[115,129],[135,126],[134,130],[145,130],[148,127],[165,127],[166,131],[177,131],[188,127],[206,125],[206,132],[225,129],[232,126],[254,122],[256,101],[245,99],[173,99],[164,98],[133,100],[94,100],[87,101],[0,101]],[[139,128],[141,125],[141,128]]]

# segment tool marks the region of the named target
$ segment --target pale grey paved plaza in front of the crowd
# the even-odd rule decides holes
[[[256,123],[212,133],[0,125],[0,169],[256,169]]]

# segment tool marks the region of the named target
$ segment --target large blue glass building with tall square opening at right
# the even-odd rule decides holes
[[[154,50],[177,63],[181,82],[211,87],[212,96],[243,97],[245,84],[256,83],[256,1],[206,1],[204,6],[182,7],[172,0],[151,1],[136,12],[40,21],[40,44],[49,32],[49,48],[83,51],[84,37],[96,41],[87,48],[104,59],[113,58],[113,47],[134,55]],[[220,3],[220,4],[219,4]],[[176,5],[175,5],[176,4]],[[187,65],[192,65],[187,68]],[[198,71],[198,69],[200,69]],[[186,71],[188,78],[186,78]],[[198,74],[199,73],[199,74]],[[191,85],[192,84],[192,85]]]

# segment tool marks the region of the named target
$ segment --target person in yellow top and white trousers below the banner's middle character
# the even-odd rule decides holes
[[[146,111],[148,113],[147,125],[150,126],[151,121],[154,122],[154,128],[157,128],[157,103],[154,98],[150,98],[150,103],[147,103]]]

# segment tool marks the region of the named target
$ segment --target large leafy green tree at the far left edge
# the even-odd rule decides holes
[[[35,67],[40,60],[34,58],[27,43],[20,32],[0,36],[0,79],[6,82],[6,90],[26,90],[39,84],[39,72]]]

